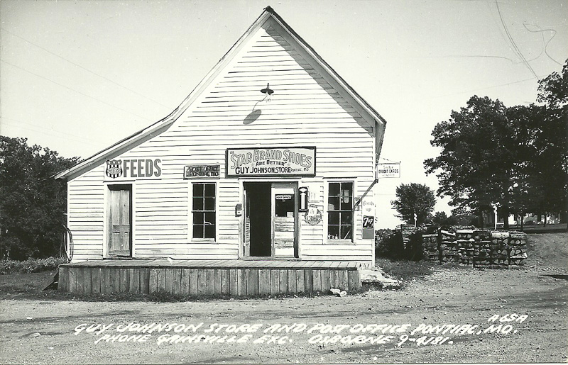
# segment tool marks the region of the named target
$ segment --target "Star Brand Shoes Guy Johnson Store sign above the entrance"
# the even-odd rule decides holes
[[[315,147],[229,148],[226,176],[315,176]]]

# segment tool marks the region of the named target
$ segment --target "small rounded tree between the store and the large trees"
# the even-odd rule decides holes
[[[398,218],[413,224],[416,214],[416,223],[420,225],[425,223],[434,210],[436,197],[434,191],[425,184],[400,184],[396,188],[396,199],[391,201],[391,204],[398,212]]]

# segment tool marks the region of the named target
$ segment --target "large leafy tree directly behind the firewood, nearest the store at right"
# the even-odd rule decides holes
[[[508,216],[517,141],[503,103],[472,96],[465,108],[435,126],[432,137],[430,143],[442,152],[424,164],[427,174],[441,170],[438,196],[479,215],[498,202]]]

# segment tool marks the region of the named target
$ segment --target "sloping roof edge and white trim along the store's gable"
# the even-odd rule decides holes
[[[246,43],[246,40],[251,38],[251,36],[256,33],[256,31],[261,28],[261,26],[270,18],[272,18],[286,32],[288,32],[288,34],[293,38],[293,40],[295,40],[295,42],[302,48],[302,50],[304,50],[308,55],[310,55],[310,57],[313,58],[313,60],[315,60],[315,62],[317,62],[317,64],[323,69],[323,71],[326,72],[329,77],[331,77],[331,79],[336,84],[336,87],[339,87],[340,89],[345,91],[345,93],[349,95],[351,99],[353,99],[359,106],[361,106],[364,113],[372,118],[376,124],[382,125],[384,128],[384,126],[386,125],[386,120],[381,117],[381,115],[372,106],[370,106],[365,101],[365,99],[357,94],[357,92],[351,86],[349,86],[349,84],[347,84],[345,80],[342,79],[342,77],[340,77],[339,74],[337,74],[337,72],[335,72],[335,70],[331,66],[329,66],[329,64],[327,64],[327,62],[325,62],[322,57],[318,55],[317,52],[310,45],[308,45],[302,37],[300,37],[300,35],[295,32],[295,30],[288,26],[288,23],[286,23],[283,18],[281,18],[278,13],[276,13],[271,8],[271,6],[267,6],[264,9],[263,13],[261,13],[261,16],[259,16],[256,21],[254,21],[249,29],[247,29],[246,32],[241,35],[239,40],[237,40],[236,43],[234,43],[234,45],[232,45],[232,47],[225,53],[225,55],[221,57],[219,62],[217,62],[217,64],[209,71],[209,73],[201,80],[201,82],[197,84],[197,86],[195,86],[195,88],[191,91],[187,98],[182,101],[178,108],[175,108],[168,116],[165,116],[165,118],[158,120],[147,128],[139,130],[133,135],[130,135],[129,137],[116,142],[114,145],[111,145],[110,147],[107,147],[104,150],[95,153],[91,157],[84,159],[79,164],[70,167],[70,169],[66,169],[65,171],[55,174],[54,178],[70,179],[72,177],[78,176],[83,172],[89,171],[90,169],[92,169],[92,167],[98,166],[105,160],[119,155],[121,152],[130,150],[131,148],[136,147],[136,145],[140,145],[142,142],[149,140],[152,137],[155,137],[156,135],[159,135],[163,131],[170,128],[175,120],[177,120],[182,115],[182,113],[184,113],[187,108],[192,105],[193,101],[195,101],[195,99],[197,99],[197,97],[202,94],[204,89],[206,89],[207,86],[215,79],[215,77],[217,77],[217,74],[222,71],[226,64],[228,64],[232,60],[232,58],[241,49],[244,43]],[[382,145],[382,140],[379,143]],[[380,152],[381,150],[381,145],[378,145],[378,152]]]

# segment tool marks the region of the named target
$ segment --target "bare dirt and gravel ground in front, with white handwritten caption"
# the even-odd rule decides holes
[[[439,267],[402,291],[344,298],[86,302],[2,292],[0,362],[565,362],[567,234],[529,240],[523,269]]]

